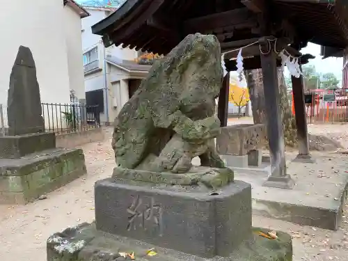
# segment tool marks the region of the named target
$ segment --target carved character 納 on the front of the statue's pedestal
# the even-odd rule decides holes
[[[127,212],[129,213],[127,230],[136,230],[137,227],[146,230],[147,226],[155,224],[159,235],[162,235],[162,208],[161,205],[155,204],[154,198],[150,198],[146,204],[140,196],[135,196]]]

